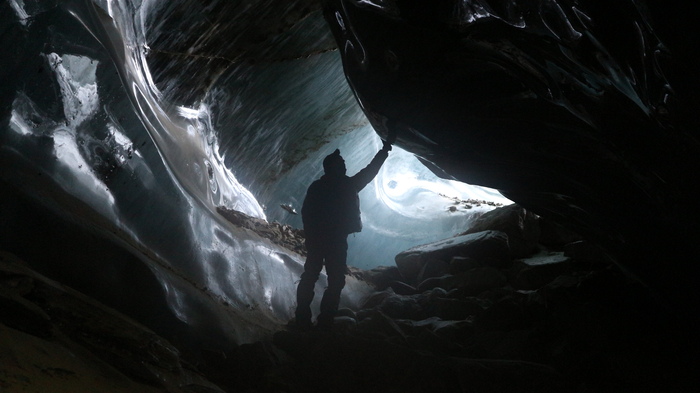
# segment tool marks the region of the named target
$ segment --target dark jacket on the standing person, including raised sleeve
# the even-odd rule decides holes
[[[311,183],[301,208],[307,239],[333,239],[362,230],[358,192],[374,179],[388,154],[380,150],[355,176],[326,174]]]

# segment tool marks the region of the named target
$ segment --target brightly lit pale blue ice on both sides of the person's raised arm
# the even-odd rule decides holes
[[[323,158],[336,148],[345,159],[347,175],[353,176],[381,147],[382,140],[369,124],[329,142],[278,184],[276,204],[300,211],[306,189],[323,175]],[[396,254],[462,233],[481,214],[512,203],[497,190],[442,179],[396,145],[359,195],[363,229],[348,237],[348,265],[362,269],[393,265]],[[300,215],[274,207],[268,201],[268,219],[303,227]]]

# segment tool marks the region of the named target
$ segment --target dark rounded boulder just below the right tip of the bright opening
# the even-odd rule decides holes
[[[508,235],[512,258],[523,258],[537,252],[540,240],[538,216],[516,204],[484,213],[463,234],[487,230],[501,231]]]

